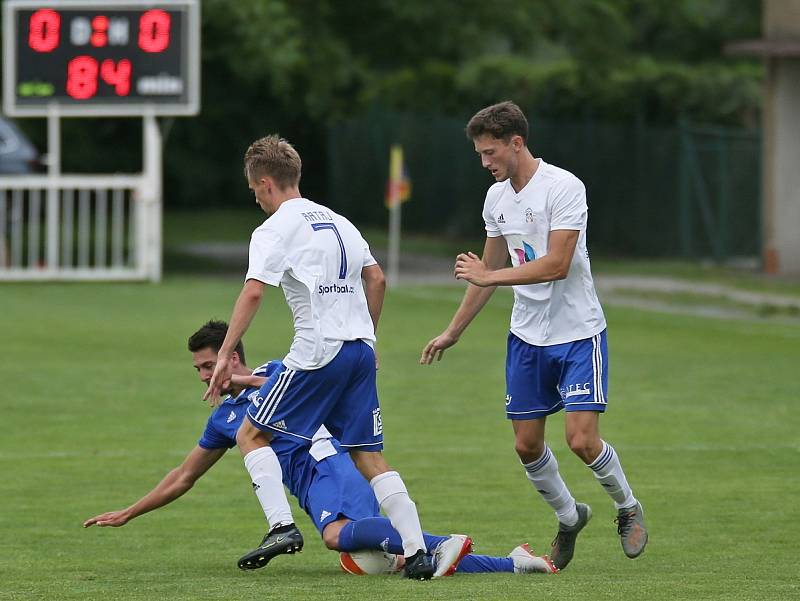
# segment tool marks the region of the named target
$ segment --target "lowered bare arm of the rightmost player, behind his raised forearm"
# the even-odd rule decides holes
[[[483,264],[490,265],[492,269],[500,269],[506,264],[507,260],[508,250],[506,249],[505,239],[500,236],[487,237],[483,247]],[[454,275],[458,277],[455,272]],[[458,342],[467,326],[489,301],[492,293],[494,293],[493,287],[469,285],[450,325],[447,326],[444,332],[425,345],[419,362],[422,365],[430,365],[434,359],[440,361],[444,351]]]

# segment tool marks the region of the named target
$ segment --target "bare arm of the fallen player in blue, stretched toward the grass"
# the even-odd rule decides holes
[[[189,490],[197,479],[205,474],[227,449],[204,449],[196,446],[183,463],[169,472],[156,487],[126,509],[108,511],[89,518],[83,523],[89,526],[124,526],[133,518],[171,503]]]

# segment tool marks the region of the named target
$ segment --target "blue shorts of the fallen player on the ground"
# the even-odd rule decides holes
[[[303,509],[320,534],[331,522],[380,515],[372,487],[347,453],[326,457],[314,468]]]

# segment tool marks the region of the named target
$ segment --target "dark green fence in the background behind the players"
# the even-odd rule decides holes
[[[386,223],[389,146],[399,143],[412,182],[403,227],[479,235],[493,180],[464,135],[465,122],[374,112],[334,125],[329,201],[360,223]],[[593,253],[720,261],[759,255],[758,132],[533,118],[529,146],[586,184]]]

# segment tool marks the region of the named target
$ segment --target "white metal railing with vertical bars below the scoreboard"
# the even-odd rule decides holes
[[[158,280],[161,206],[144,175],[0,177],[0,280]]]

